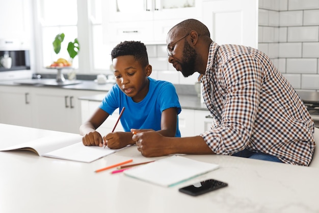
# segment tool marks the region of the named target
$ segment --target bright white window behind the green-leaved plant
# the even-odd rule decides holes
[[[77,73],[99,74],[110,68],[111,49],[103,40],[101,4],[101,0],[37,0],[36,55],[42,61],[37,70],[48,73],[44,67],[53,61],[69,60],[67,45],[75,38],[81,46],[73,59]],[[60,53],[56,54],[52,42],[60,33],[65,38]]]

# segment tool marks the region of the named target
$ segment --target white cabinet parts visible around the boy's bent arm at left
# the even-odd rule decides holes
[[[81,100],[81,109],[82,109],[82,123],[87,122],[90,117],[93,115],[93,113],[98,109],[100,106],[101,102],[100,101],[88,101],[88,100]],[[117,120],[119,117],[119,110],[116,109],[112,115],[108,117],[105,122],[96,129],[102,136],[106,135],[110,132],[112,132]],[[121,125],[121,121],[116,126],[116,129],[114,130],[115,132],[118,131],[124,131],[123,127]]]

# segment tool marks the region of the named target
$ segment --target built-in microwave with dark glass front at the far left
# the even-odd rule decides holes
[[[11,58],[11,66],[5,67],[1,60]],[[15,39],[0,39],[0,81],[32,78],[30,49]]]

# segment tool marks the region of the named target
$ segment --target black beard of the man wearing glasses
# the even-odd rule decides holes
[[[197,58],[196,51],[191,47],[191,45],[185,39],[183,57],[181,60],[181,73],[184,77],[189,77],[195,73],[195,62]]]

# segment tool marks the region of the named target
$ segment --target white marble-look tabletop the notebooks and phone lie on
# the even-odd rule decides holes
[[[0,145],[49,134],[10,125],[0,125],[0,131]],[[232,156],[184,156],[220,168],[167,188],[110,174],[114,169],[94,172],[128,159],[159,159],[143,157],[135,146],[92,163],[0,152],[0,212],[319,212],[319,169]],[[198,197],[178,192],[208,178],[228,186]]]

